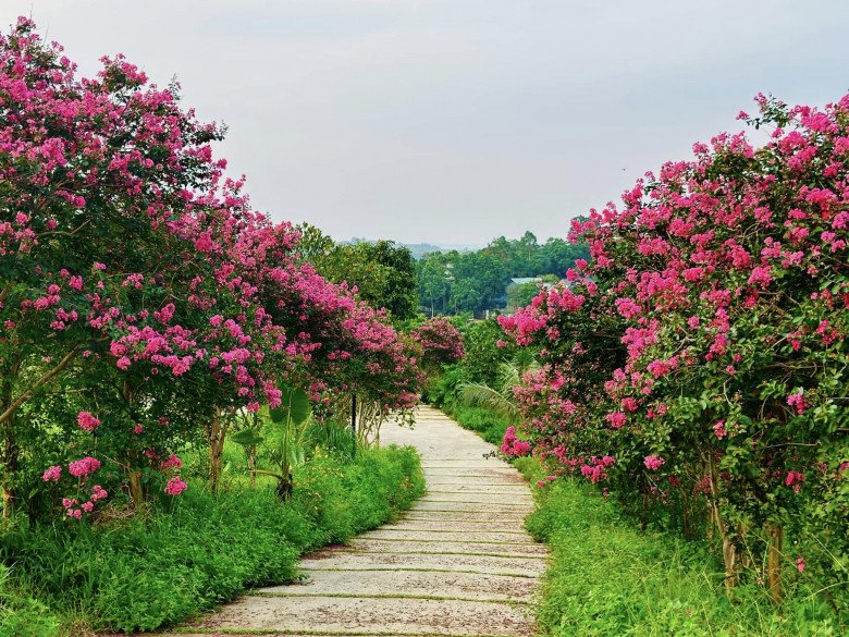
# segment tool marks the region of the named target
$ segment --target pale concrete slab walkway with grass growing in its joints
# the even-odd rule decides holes
[[[197,635],[532,634],[546,551],[522,528],[532,500],[521,476],[430,407],[413,430],[385,425],[381,443],[419,450],[427,494],[396,523],[305,556],[303,583],[253,591]]]

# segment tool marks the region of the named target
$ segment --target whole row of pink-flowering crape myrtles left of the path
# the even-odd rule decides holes
[[[283,381],[416,393],[384,317],[298,265],[299,233],[223,176],[222,131],[102,62],[78,79],[26,19],[0,37],[4,515],[49,492],[82,517],[108,497],[96,482],[176,495],[173,452],[207,440],[213,460],[222,414],[274,407]]]

